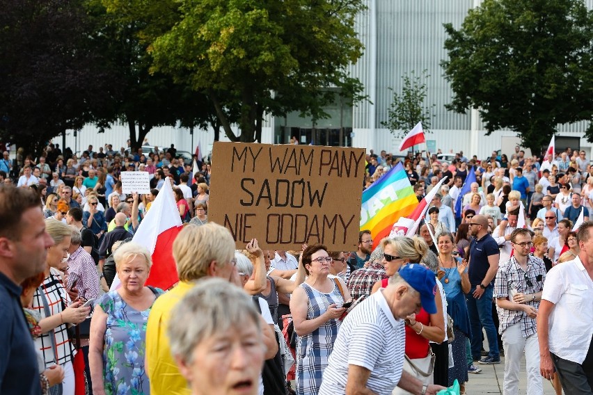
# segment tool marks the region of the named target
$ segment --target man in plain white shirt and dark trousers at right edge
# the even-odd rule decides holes
[[[537,312],[540,373],[558,372],[565,394],[593,394],[593,221],[580,225],[580,252],[548,272]]]

